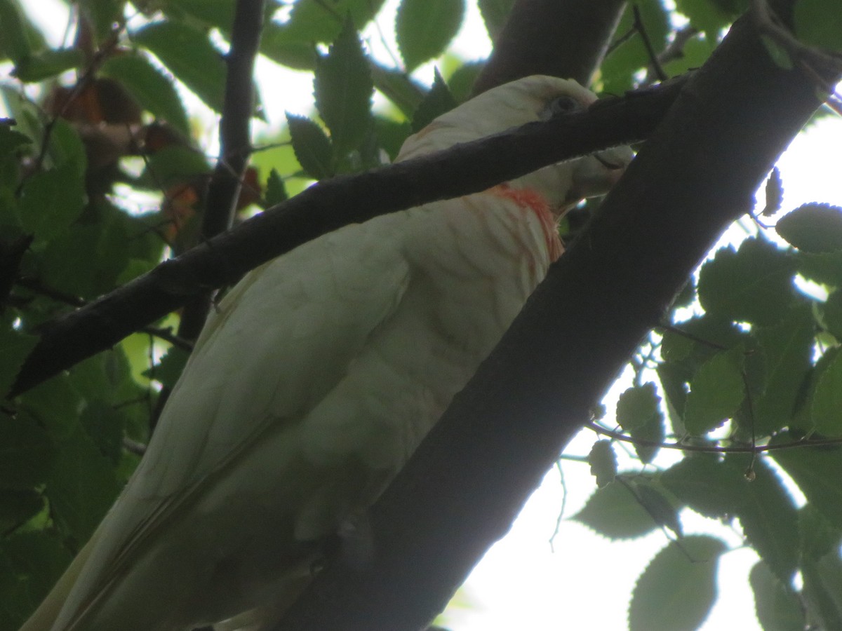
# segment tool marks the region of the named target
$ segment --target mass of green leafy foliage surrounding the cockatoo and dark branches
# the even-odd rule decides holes
[[[513,1],[477,3],[496,38]],[[0,123],[0,255],[14,268],[0,274],[0,287],[11,285],[0,295],[3,392],[41,326],[195,243],[213,165],[182,88],[224,114],[221,51],[235,2],[153,4],[73,3],[88,44],[71,37],[72,45],[51,48],[25,3],[0,0],[0,58],[13,66],[0,93],[15,123]],[[484,65],[448,52],[464,0],[402,0],[392,51],[402,64],[375,59],[371,32],[360,35],[383,0],[298,0],[279,17],[281,4],[267,5],[260,52],[312,72],[314,98],[308,114],[289,114],[282,129],[253,140],[261,151],[244,188],[264,207],[313,179],[394,159],[410,133],[469,98]],[[603,91],[622,93],[651,74],[633,29],[645,30],[656,55],[674,41],[675,16],[663,2],[634,4],[640,24],[626,8],[597,73]],[[747,2],[676,6],[701,33],[664,60],[670,76],[701,66]],[[142,24],[128,19],[137,10],[150,12]],[[839,50],[837,13],[799,0],[799,38]],[[391,26],[380,20],[381,29]],[[785,50],[771,50],[791,64]],[[437,70],[410,74],[430,60],[446,82]],[[24,91],[24,82],[33,85]],[[130,140],[120,141],[126,130]],[[763,217],[779,216],[782,189],[773,172]],[[152,198],[141,211],[140,193]],[[785,244],[760,231],[710,257],[637,349],[615,416],[595,421],[624,434],[633,450],[594,444],[587,460],[597,490],[573,519],[611,539],[659,531],[674,538],[637,583],[630,628],[695,628],[715,600],[725,548],[685,536],[688,511],[731,524],[760,555],[750,583],[766,631],[805,621],[842,628],[842,449],[831,440],[842,437],[840,218],[836,207],[805,204],[775,225]],[[796,289],[798,275],[821,284],[827,300]],[[157,323],[177,325],[178,315]],[[158,388],[175,384],[186,359],[138,332],[0,406],[0,629],[18,628],[93,532],[136,466],[129,448],[148,440]],[[793,447],[805,437],[818,446]],[[693,450],[664,465],[663,443]],[[754,447],[770,451],[752,459]],[[729,449],[736,452],[721,453]],[[632,461],[620,474],[618,453]],[[791,580],[797,572],[800,589]]]

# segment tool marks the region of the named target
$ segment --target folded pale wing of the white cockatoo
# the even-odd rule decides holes
[[[211,315],[147,455],[96,533],[59,621],[76,619],[179,506],[264,432],[295,422],[397,309],[406,214],[349,225],[249,273]],[[184,393],[184,395],[182,395]]]

